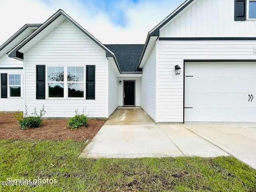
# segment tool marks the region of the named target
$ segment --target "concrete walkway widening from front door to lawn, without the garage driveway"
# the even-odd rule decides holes
[[[118,109],[80,157],[228,156],[182,124],[155,124],[142,109]]]

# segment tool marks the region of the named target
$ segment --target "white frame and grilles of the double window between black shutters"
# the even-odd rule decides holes
[[[60,83],[59,81],[48,81],[48,67],[64,67],[64,97],[49,97],[49,94],[48,94],[48,89],[49,89],[49,86],[48,84],[49,83]],[[68,67],[83,67],[84,68],[84,97],[68,97],[68,83],[73,83],[73,82],[68,82],[67,80],[67,76],[68,76]],[[58,65],[47,65],[46,66],[46,88],[45,88],[45,94],[46,94],[46,99],[49,99],[49,100],[63,100],[63,99],[68,99],[68,100],[81,100],[81,99],[85,99],[86,98],[86,94],[85,94],[85,89],[86,89],[86,73],[85,73],[85,70],[86,70],[86,67],[84,65],[65,65],[65,66],[58,66]],[[82,83],[82,82],[80,82]]]

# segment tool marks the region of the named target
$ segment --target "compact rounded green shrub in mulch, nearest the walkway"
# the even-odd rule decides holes
[[[76,110],[76,115],[74,117],[68,119],[68,127],[70,129],[78,129],[88,124],[88,118],[84,115],[84,110],[83,114],[78,114],[77,111],[78,110]]]

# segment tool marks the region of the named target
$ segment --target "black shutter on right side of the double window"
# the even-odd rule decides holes
[[[95,99],[95,65],[86,65],[86,99]]]

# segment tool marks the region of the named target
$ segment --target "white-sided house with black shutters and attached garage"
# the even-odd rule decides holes
[[[140,106],[155,122],[256,122],[256,2],[186,0],[145,45],[104,45],[59,10],[0,47],[0,73],[1,111]]]

